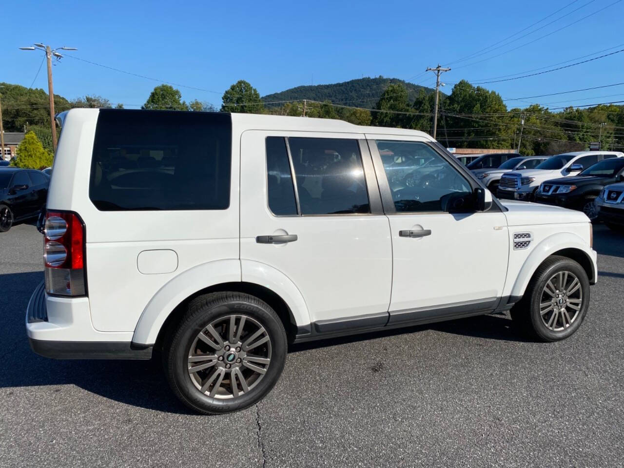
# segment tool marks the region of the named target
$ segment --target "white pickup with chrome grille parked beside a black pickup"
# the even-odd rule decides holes
[[[500,178],[497,197],[531,202],[542,182],[551,178],[577,175],[598,161],[615,157],[624,157],[624,153],[579,151],[551,156],[533,170],[525,169],[503,174]]]

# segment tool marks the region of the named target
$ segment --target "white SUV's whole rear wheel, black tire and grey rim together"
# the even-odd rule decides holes
[[[203,414],[238,411],[271,391],[286,361],[286,332],[254,296],[213,293],[191,301],[165,339],[163,364],[182,402]]]

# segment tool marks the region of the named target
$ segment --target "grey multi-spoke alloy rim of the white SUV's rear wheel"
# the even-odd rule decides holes
[[[197,334],[187,364],[200,392],[218,399],[236,398],[264,378],[271,365],[271,338],[250,316],[222,316]]]

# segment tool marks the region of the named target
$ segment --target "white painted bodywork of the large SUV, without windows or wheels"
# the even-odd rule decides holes
[[[562,208],[511,202],[506,212],[470,215],[308,217],[275,217],[268,209],[267,135],[432,141],[414,130],[233,114],[227,209],[99,211],[89,199],[98,113],[79,109],[67,115],[47,202],[49,210],[73,211],[84,221],[88,297],[48,296],[49,321],[27,323],[33,339],[154,344],[182,301],[210,286],[241,281],[273,291],[296,326],[309,326],[520,296],[537,266],[564,248],[587,255],[596,280],[590,223],[583,213]],[[417,225],[432,235],[399,237],[399,230]],[[515,232],[532,233],[529,248],[513,250]],[[293,233],[298,240],[256,243],[256,236],[275,233]]]

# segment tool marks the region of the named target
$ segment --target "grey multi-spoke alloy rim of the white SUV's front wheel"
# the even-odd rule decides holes
[[[542,322],[552,331],[568,328],[578,318],[583,305],[583,289],[571,271],[558,271],[550,277],[540,296]]]

